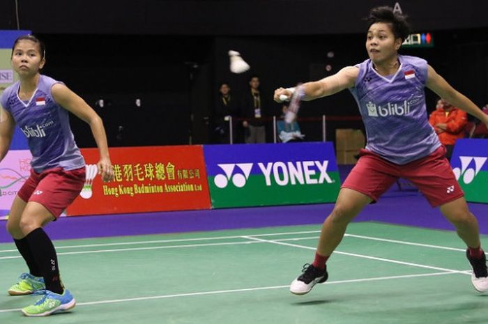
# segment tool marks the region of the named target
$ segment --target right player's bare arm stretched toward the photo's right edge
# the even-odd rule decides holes
[[[469,98],[459,93],[455,88],[452,88],[430,65],[427,67],[426,86],[451,105],[466,111],[468,114],[475,116],[488,125],[488,115],[483,114],[481,109],[469,100]]]

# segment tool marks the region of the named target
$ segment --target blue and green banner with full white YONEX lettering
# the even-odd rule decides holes
[[[206,145],[213,208],[327,203],[340,177],[333,144]]]

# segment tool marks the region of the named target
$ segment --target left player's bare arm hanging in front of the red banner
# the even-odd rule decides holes
[[[63,84],[52,86],[52,96],[61,107],[90,125],[93,138],[100,151],[100,161],[97,164],[98,173],[102,176],[102,180],[112,180],[114,173],[109,157],[107,135],[100,116],[79,95]]]

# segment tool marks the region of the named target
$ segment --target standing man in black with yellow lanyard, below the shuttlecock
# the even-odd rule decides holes
[[[250,90],[245,93],[241,102],[241,115],[244,118],[244,141],[251,143],[266,143],[266,128],[264,126],[264,105],[259,91],[259,77],[252,75],[249,79]]]

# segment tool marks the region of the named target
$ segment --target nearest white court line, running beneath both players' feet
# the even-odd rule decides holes
[[[363,279],[337,280],[337,281],[327,281],[324,284],[349,284],[353,282],[406,279],[406,278],[414,278],[414,277],[433,277],[439,275],[451,275],[452,273],[454,272],[434,272],[434,273],[423,273],[418,275],[402,275],[402,276],[390,276],[390,277],[373,277],[373,278],[363,278]],[[241,293],[245,291],[265,291],[265,290],[282,289],[282,288],[289,288],[289,285],[229,289],[229,290],[222,290],[222,291],[201,291],[197,293],[178,293],[174,295],[157,295],[157,296],[138,297],[138,298],[124,298],[124,299],[117,299],[117,300],[99,300],[96,302],[78,302],[77,306],[89,306],[89,305],[96,305],[96,304],[115,304],[119,302],[137,302],[142,300],[156,300],[156,299],[179,298],[179,297],[190,297],[190,296],[201,296],[201,295],[218,295],[222,293]],[[20,308],[0,309],[0,313],[8,313],[12,311],[20,311]]]

